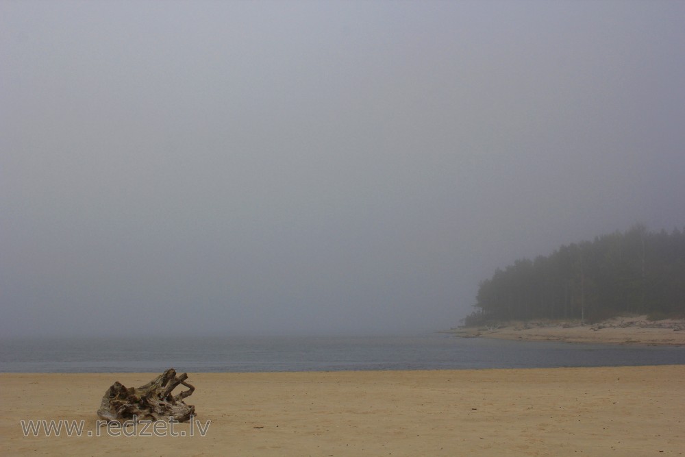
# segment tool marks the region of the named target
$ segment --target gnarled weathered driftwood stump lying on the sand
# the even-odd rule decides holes
[[[177,376],[176,371],[170,368],[138,388],[126,388],[117,381],[103,395],[97,415],[105,421],[119,423],[134,416],[138,421],[169,419],[186,422],[195,414],[195,406],[186,405],[183,401],[195,391],[195,387],[188,384],[186,379],[186,373]],[[171,392],[179,384],[188,387],[188,390],[172,396]]]

